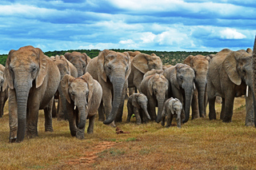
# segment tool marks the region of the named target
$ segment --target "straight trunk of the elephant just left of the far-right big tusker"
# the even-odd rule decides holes
[[[206,81],[198,81],[198,105],[200,117],[206,117],[205,108],[205,94],[206,94]]]

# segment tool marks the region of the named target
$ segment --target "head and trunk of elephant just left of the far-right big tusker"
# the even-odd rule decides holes
[[[190,65],[195,73],[195,86],[198,89],[198,104],[200,117],[206,116],[206,77],[209,68],[210,57],[202,55],[190,55],[183,61],[184,64]],[[197,100],[197,99],[196,99]]]

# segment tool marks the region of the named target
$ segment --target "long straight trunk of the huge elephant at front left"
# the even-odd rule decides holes
[[[15,84],[17,107],[18,107],[18,131],[17,131],[17,142],[21,142],[26,133],[26,109],[27,100],[30,92],[31,85],[27,85],[26,81],[19,81]]]

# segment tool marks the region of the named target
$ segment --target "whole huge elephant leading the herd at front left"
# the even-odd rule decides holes
[[[52,105],[61,75],[41,49],[23,46],[10,50],[3,89],[9,86],[10,142],[38,136],[38,110],[44,109],[45,131],[53,131]]]

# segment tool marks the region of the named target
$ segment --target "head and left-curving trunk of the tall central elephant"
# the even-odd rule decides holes
[[[113,88],[112,108],[106,121],[103,122],[106,125],[117,117],[118,108],[123,102],[122,93],[126,90],[124,86],[130,74],[130,64],[130,55],[126,52],[117,53],[105,49],[98,55],[98,81]]]

